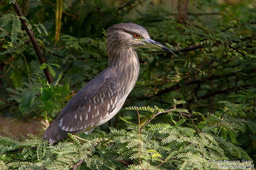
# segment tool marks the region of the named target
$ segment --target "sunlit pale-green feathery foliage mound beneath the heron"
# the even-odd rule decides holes
[[[0,136],[0,158],[4,156],[2,162],[12,169],[70,169],[80,160],[84,160],[79,166],[82,169],[137,169],[139,157],[146,169],[156,169],[160,163],[158,169],[218,169],[208,160],[251,159],[243,149],[222,137],[177,124],[148,124],[147,130],[140,132],[140,139],[137,132],[137,126],[129,131],[110,128],[109,134],[96,130],[83,142],[69,134],[75,142],[67,139],[54,146],[33,134],[28,134],[24,141],[9,134]],[[106,140],[112,142],[106,144]],[[13,156],[12,162],[6,162]],[[131,162],[126,168],[124,160]]]

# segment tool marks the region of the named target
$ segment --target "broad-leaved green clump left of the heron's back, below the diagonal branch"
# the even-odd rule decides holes
[[[25,82],[23,84],[27,87],[19,87],[16,90],[7,89],[13,93],[8,100],[20,103],[19,109],[22,115],[26,113],[30,118],[36,118],[37,116],[34,116],[38,114],[38,111],[41,111],[40,116],[47,121],[51,121],[60,112],[66,97],[71,92],[68,83],[64,86],[49,85],[41,77],[32,78],[32,83]]]

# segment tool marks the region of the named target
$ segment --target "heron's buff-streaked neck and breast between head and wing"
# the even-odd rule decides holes
[[[125,100],[138,79],[139,59],[134,48],[122,48],[115,51],[120,52],[109,56],[108,64],[116,70]]]

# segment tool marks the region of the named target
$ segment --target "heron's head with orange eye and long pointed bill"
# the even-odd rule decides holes
[[[107,53],[111,54],[118,48],[158,48],[171,52],[164,45],[151,40],[145,28],[134,23],[120,23],[111,26],[106,31]]]

